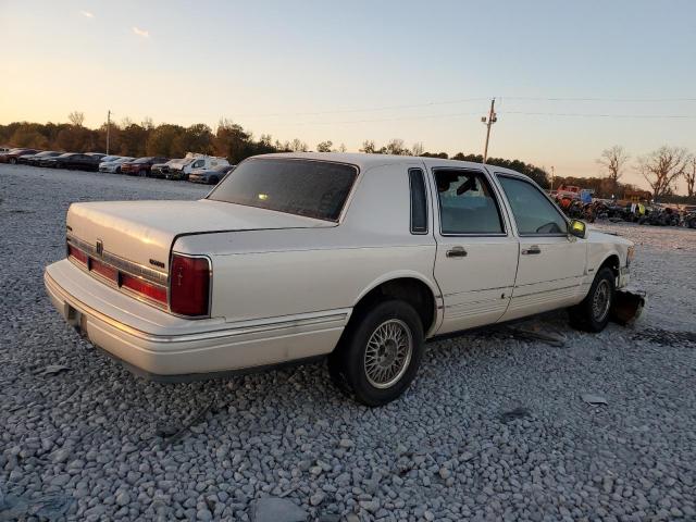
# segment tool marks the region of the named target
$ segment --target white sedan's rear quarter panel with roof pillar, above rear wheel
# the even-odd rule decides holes
[[[175,251],[211,256],[212,315],[236,322],[351,308],[398,277],[418,278],[438,295],[434,238],[409,229],[408,166],[372,171],[360,176],[336,226],[179,238]]]

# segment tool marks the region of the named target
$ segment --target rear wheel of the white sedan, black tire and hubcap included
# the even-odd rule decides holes
[[[410,304],[389,300],[358,312],[328,357],[328,372],[365,406],[386,405],[415,377],[423,358],[423,325]]]

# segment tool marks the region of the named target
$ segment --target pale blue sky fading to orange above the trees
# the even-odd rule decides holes
[[[0,123],[221,117],[358,151],[391,138],[562,176],[696,152],[696,1],[0,0]]]

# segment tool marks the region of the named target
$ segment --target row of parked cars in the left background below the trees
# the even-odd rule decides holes
[[[40,151],[29,148],[14,148],[1,152],[0,163],[185,179],[208,185],[216,185],[234,169],[225,158],[192,152],[188,152],[185,158],[170,159],[107,156],[101,152]]]

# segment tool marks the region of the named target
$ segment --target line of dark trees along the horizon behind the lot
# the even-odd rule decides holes
[[[105,151],[107,124],[98,128],[88,128],[84,126],[84,114],[75,111],[69,115],[69,123],[13,122],[0,125],[0,145],[71,152]],[[154,125],[150,119],[135,123],[127,117],[120,123],[112,123],[110,127],[109,152],[136,158],[144,156],[182,158],[186,152],[192,151],[226,157],[231,163],[235,164],[254,154],[308,150],[310,147],[299,138],[279,141],[268,134],[256,138],[252,133],[229,120],[221,120],[215,129],[203,123],[185,127],[170,123]],[[345,152],[346,147],[343,144],[335,147],[333,141],[325,140],[316,144],[315,150]],[[446,152],[426,151],[422,142],[407,147],[402,139],[391,139],[383,146],[377,146],[373,140],[365,140],[360,151],[483,162],[481,154],[458,152],[449,157]],[[634,185],[621,183],[629,167],[629,160],[630,156],[623,147],[613,146],[604,150],[597,160],[605,176],[588,178],[559,176],[554,179],[545,169],[521,160],[488,158],[487,163],[526,174],[544,188],[550,188],[551,185],[557,187],[560,184],[581,185],[594,189],[598,197],[622,198],[626,190],[636,190]],[[637,158],[634,169],[645,177],[656,200],[689,202],[696,199],[696,157],[686,149],[660,147],[656,151]],[[675,194],[675,185],[680,179],[686,182],[686,197]]]

